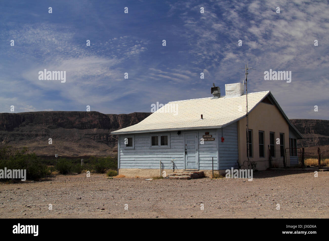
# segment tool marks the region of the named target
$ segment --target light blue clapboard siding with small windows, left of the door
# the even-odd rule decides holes
[[[177,131],[163,132],[170,134],[170,148],[150,148],[150,133],[134,134],[135,149],[125,149],[124,138],[120,138],[120,168],[172,169],[171,158],[175,158],[175,169],[184,168],[184,134]],[[153,134],[153,133],[152,133]],[[156,133],[162,134],[162,133]],[[127,135],[131,136],[131,135]]]

